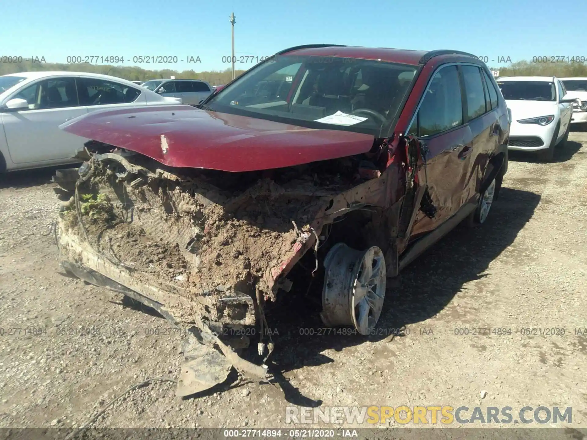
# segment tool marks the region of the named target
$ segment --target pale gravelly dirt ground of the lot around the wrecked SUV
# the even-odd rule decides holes
[[[51,175],[0,181],[0,427],[83,425],[183,361],[167,321],[59,273]],[[555,163],[512,154],[487,223],[459,226],[404,270],[374,336],[318,334],[318,314],[292,295],[269,319],[281,387],[233,374],[183,400],[158,382],[95,427],[282,427],[286,405],[545,405],[573,407],[585,428],[586,243],[587,133],[571,133]],[[480,327],[511,333],[473,335]]]

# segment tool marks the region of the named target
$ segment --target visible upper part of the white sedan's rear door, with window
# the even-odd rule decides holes
[[[80,77],[77,79],[77,93],[80,103],[85,104],[87,111],[100,109],[116,109],[145,105],[145,93],[140,87],[130,87],[102,78]]]

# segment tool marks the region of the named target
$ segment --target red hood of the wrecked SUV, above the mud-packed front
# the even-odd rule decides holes
[[[60,128],[171,167],[235,172],[366,153],[375,140],[369,134],[298,127],[192,106],[97,110]]]

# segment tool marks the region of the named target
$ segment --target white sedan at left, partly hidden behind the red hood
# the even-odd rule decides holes
[[[87,139],[59,126],[100,109],[181,104],[114,76],[21,72],[0,76],[0,172],[76,163]]]

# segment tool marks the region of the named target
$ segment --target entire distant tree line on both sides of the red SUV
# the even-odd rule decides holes
[[[213,86],[227,84],[232,79],[230,69],[210,70],[206,72],[195,72],[184,70],[178,72],[172,69],[147,70],[138,66],[110,66],[92,65],[89,63],[66,64],[66,63],[33,63],[31,60],[23,60],[21,63],[0,63],[0,75],[18,72],[35,72],[50,70],[66,70],[70,72],[102,73],[124,78],[130,81],[146,81],[150,79],[169,78],[175,76],[183,79],[201,79]],[[518,61],[507,67],[492,67],[492,70],[499,70],[500,76],[582,76],[587,77],[587,65],[585,63],[532,63]],[[236,70],[235,75],[239,76],[245,70]]]

